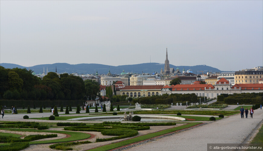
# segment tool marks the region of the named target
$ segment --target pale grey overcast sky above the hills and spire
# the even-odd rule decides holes
[[[263,65],[263,1],[0,1],[0,62]]]

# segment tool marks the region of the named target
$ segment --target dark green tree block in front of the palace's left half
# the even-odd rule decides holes
[[[133,103],[141,103],[141,104],[171,104],[176,102],[198,102],[197,96],[195,93],[191,94],[164,94],[162,96],[148,96],[141,97],[137,99],[133,99]]]

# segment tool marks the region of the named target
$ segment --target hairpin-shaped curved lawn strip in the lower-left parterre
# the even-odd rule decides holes
[[[29,144],[44,144],[44,143],[59,143],[59,142],[68,142],[68,141],[76,141],[83,140],[90,137],[89,134],[81,133],[81,132],[70,132],[70,131],[50,131],[50,130],[35,130],[35,129],[17,129],[17,128],[1,128],[3,130],[9,131],[25,131],[25,132],[49,132],[49,133],[61,133],[61,134],[69,134],[68,138],[61,138],[57,140],[43,140],[43,141],[34,141],[29,142]]]

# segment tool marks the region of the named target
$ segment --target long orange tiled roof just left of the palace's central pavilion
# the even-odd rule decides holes
[[[172,91],[181,91],[182,90],[205,90],[209,89],[214,89],[215,87],[212,84],[177,84],[172,88]],[[175,90],[176,89],[176,90]]]

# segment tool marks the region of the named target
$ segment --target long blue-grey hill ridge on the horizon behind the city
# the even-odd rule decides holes
[[[10,64],[10,63],[1,63],[1,66],[5,68],[26,68],[18,64]],[[160,72],[161,68],[164,70],[164,64],[159,63],[143,63],[143,64],[131,64],[131,65],[119,65],[119,66],[109,66],[104,64],[67,64],[67,63],[54,63],[54,64],[39,64],[30,67],[31,70],[33,70],[36,74],[39,74],[43,72],[43,68],[45,68],[45,72],[55,72],[57,66],[57,72],[63,73],[78,73],[78,74],[92,74],[95,73],[96,70],[98,70],[99,74],[107,74],[109,72],[109,68],[112,74],[120,74],[122,73],[122,70],[125,72],[132,72],[132,73],[153,73],[153,72]],[[222,72],[217,68],[213,68],[206,65],[196,65],[196,66],[174,66],[170,64],[170,68],[176,68],[180,69],[180,72],[183,71],[183,68],[185,71],[191,69],[193,70],[194,74],[200,74],[204,71],[206,72]]]

